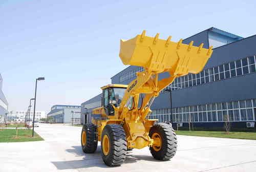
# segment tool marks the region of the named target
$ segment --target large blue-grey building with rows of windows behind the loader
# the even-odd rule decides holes
[[[151,106],[148,118],[170,121],[174,126],[254,127],[256,120],[256,35],[243,38],[209,28],[186,39],[195,46],[214,47],[211,58],[199,74],[188,74],[163,90]],[[112,83],[129,84],[143,68],[129,66],[111,78]],[[160,79],[168,77],[163,73]],[[172,98],[172,110],[170,109]],[[81,104],[82,123],[91,120],[91,110],[101,104],[101,94]],[[86,119],[86,120],[85,120]]]

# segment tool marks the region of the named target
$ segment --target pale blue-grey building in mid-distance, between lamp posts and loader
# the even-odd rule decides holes
[[[54,105],[47,117],[53,117],[54,123],[73,123],[80,124],[81,119],[80,105]]]

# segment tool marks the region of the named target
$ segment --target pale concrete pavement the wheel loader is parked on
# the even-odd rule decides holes
[[[45,141],[0,143],[0,172],[5,171],[255,171],[256,140],[178,136],[178,152],[156,161],[148,148],[127,154],[120,167],[105,166],[100,146],[95,154],[80,148],[81,127],[41,124]]]

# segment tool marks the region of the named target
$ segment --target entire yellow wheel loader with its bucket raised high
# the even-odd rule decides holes
[[[94,153],[101,142],[102,159],[106,165],[121,165],[126,151],[150,148],[157,160],[173,158],[177,137],[171,124],[148,119],[150,106],[161,90],[176,77],[199,73],[212,54],[212,47],[203,48],[142,34],[121,40],[119,56],[124,65],[143,67],[129,85],[109,84],[102,87],[101,107],[92,110],[92,123],[85,124],[81,133],[84,153]],[[160,73],[169,76],[159,78]]]

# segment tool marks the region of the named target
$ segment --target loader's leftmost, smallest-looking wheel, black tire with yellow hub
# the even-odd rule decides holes
[[[97,128],[92,123],[83,125],[81,132],[81,146],[84,153],[92,154],[96,151],[98,146],[96,131]]]

